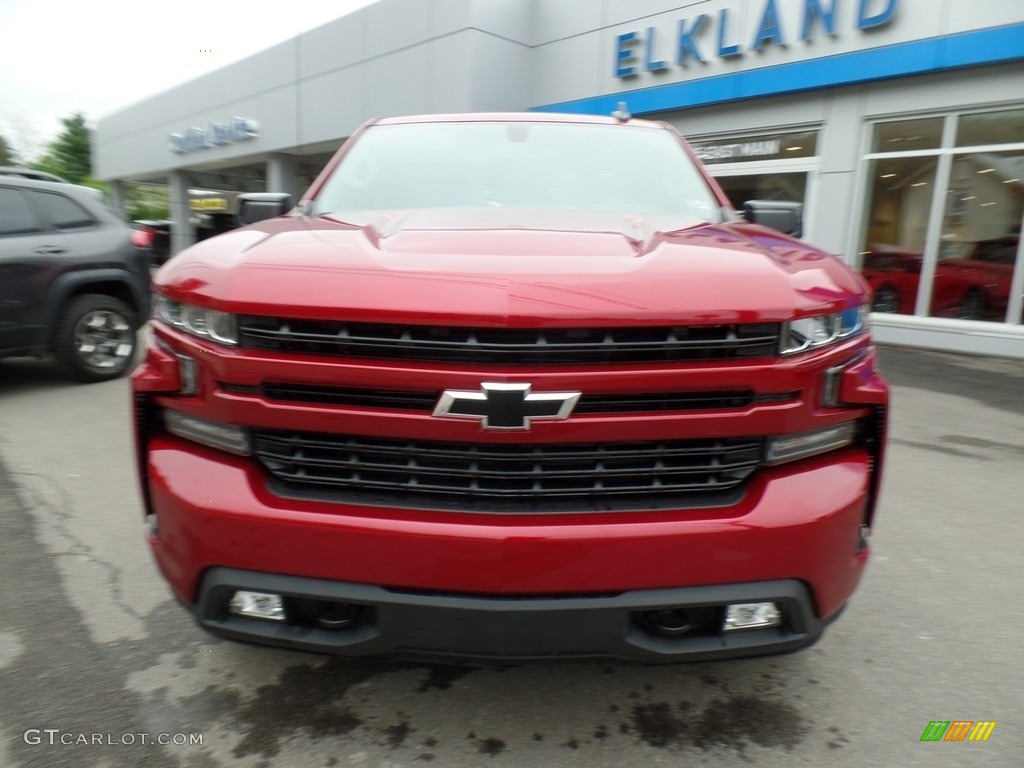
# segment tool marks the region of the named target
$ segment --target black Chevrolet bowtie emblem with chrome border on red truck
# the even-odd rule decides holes
[[[483,382],[479,392],[445,389],[434,416],[480,419],[483,429],[529,429],[534,419],[568,419],[580,392],[530,392],[529,384]]]

